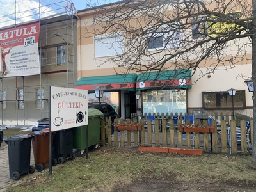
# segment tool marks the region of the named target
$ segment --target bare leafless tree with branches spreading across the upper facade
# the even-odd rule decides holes
[[[115,50],[113,56],[99,60],[99,65],[111,62],[114,67],[124,67],[126,73],[188,69],[195,74],[200,70],[200,79],[252,59],[256,84],[255,0],[128,0],[98,6],[94,11],[92,23],[86,24],[86,36],[99,41],[106,35],[115,37],[114,42],[105,42]],[[211,64],[207,62],[210,59]],[[253,94],[253,168],[255,100]]]

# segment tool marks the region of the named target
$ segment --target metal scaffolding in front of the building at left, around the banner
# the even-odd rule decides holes
[[[39,22],[40,74],[0,78],[1,123],[33,125],[36,120],[49,117],[49,87],[74,88],[77,80],[76,9],[68,0],[8,3],[0,7],[4,13],[0,15],[0,32]]]

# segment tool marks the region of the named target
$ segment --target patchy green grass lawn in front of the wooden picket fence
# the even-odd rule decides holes
[[[115,191],[143,179],[179,182],[233,182],[254,184],[249,168],[252,156],[204,154],[182,156],[137,150],[100,148],[89,159],[77,157],[55,168],[52,176],[27,180],[8,191]]]

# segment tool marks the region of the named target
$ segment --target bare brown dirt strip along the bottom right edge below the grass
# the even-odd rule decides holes
[[[142,182],[134,182],[129,187],[116,188],[115,192],[248,192],[256,191],[255,184],[237,184],[237,183],[207,183],[207,182],[177,182],[168,180],[143,179]]]

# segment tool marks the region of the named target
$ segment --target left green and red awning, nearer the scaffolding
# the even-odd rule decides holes
[[[137,74],[116,74],[110,76],[93,76],[80,78],[75,88],[93,91],[103,89],[105,92],[115,90],[136,90]]]

